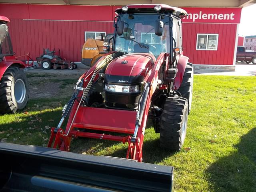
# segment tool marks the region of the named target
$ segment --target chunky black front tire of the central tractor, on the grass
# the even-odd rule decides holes
[[[187,100],[168,97],[161,114],[160,146],[172,152],[180,151],[186,136],[187,122]]]

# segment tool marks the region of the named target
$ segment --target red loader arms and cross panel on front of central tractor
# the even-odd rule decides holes
[[[86,104],[82,103],[82,101],[90,92],[93,82],[99,78],[100,70],[105,68],[108,63],[110,63],[117,56],[117,52],[109,52],[108,54],[105,54],[92,68],[90,68],[90,70],[88,70],[86,74],[83,74],[79,78],[74,95],[63,109],[60,123],[56,128],[53,127],[51,130],[48,147],[70,151],[71,139],[77,137],[115,140],[123,143],[128,142],[126,158],[142,162],[142,146],[148,110],[150,108],[150,101],[154,91],[157,88],[158,71],[160,66],[162,64],[167,64],[166,61],[168,61],[169,54],[160,54],[155,62],[152,72],[149,73],[147,78],[145,78],[147,79],[147,82],[144,85],[144,91],[140,97],[139,109],[137,112],[108,108],[92,108],[86,106]],[[61,128],[61,126],[69,113],[70,116],[66,130],[64,130]],[[88,117],[88,114],[90,115],[90,118]],[[103,133],[98,134],[93,132],[81,132],[77,128],[86,129],[86,131],[100,130]],[[104,134],[104,132],[119,132],[128,135],[113,136],[110,134]]]

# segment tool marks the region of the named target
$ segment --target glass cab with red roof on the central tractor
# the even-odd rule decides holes
[[[181,46],[180,18],[186,11],[168,5],[128,5],[116,10],[116,34],[113,50],[130,53],[150,53],[155,58]]]

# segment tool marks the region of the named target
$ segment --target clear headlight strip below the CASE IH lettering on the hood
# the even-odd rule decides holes
[[[140,92],[140,86],[139,85],[123,86],[123,85],[105,84],[105,90],[110,92],[119,92],[119,93],[138,93]]]

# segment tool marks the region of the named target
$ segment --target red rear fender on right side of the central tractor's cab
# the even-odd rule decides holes
[[[188,60],[189,60],[188,57],[181,54],[177,64],[178,72],[177,72],[176,78],[174,79],[174,85],[173,85],[174,90],[178,90],[178,88],[180,88]]]

